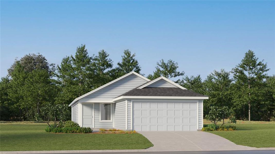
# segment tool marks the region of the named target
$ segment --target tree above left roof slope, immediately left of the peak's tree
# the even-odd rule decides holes
[[[95,56],[94,61],[92,63],[93,69],[95,70],[96,88],[112,80],[108,70],[113,67],[113,61],[108,57],[109,54],[106,51],[101,50],[98,52],[98,55]]]

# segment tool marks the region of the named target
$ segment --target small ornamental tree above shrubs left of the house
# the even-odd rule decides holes
[[[41,108],[40,114],[37,114],[36,120],[42,121],[42,117],[45,117],[46,123],[49,127],[58,127],[62,121],[68,120],[69,110],[67,104],[46,104],[43,108]],[[50,125],[49,122],[53,121],[54,125]],[[44,121],[42,121],[44,122]]]

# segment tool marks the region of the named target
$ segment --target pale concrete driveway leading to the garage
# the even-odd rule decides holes
[[[203,131],[143,131],[139,132],[154,146],[148,151],[216,151],[252,150],[254,147],[237,145],[221,136]]]

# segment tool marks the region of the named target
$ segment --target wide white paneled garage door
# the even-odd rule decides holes
[[[136,131],[197,131],[197,102],[133,102]]]

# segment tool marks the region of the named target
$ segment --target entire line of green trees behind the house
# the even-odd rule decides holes
[[[7,70],[8,75],[0,82],[0,120],[34,121],[45,105],[68,105],[75,98],[131,71],[141,74],[135,56],[124,50],[121,61],[114,67],[106,51],[90,56],[81,44],[75,55],[65,56],[57,66],[48,63],[39,53],[15,59]],[[248,50],[231,71],[214,70],[205,80],[200,75],[185,75],[171,59],[158,61],[147,78],[180,78],[174,82],[209,96],[204,100],[204,115],[211,106],[226,106],[239,120],[271,121],[275,120],[275,75],[268,76],[268,70],[267,64]]]

